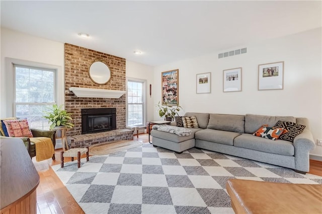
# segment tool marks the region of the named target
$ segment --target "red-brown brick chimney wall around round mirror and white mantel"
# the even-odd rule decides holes
[[[69,129],[68,136],[82,133],[82,108],[116,108],[116,128],[126,126],[126,96],[119,99],[76,97],[69,92],[69,87],[126,90],[125,59],[98,51],[66,44],[65,48],[65,109],[72,113],[74,128]],[[105,85],[94,83],[89,77],[89,66],[95,59],[106,61],[111,70],[111,79]]]

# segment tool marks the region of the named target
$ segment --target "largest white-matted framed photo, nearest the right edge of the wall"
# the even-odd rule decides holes
[[[258,65],[258,90],[283,89],[284,61]]]

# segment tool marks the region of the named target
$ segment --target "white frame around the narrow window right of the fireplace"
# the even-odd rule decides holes
[[[145,126],[146,124],[146,87],[147,81],[144,79],[137,79],[137,78],[126,78],[126,126],[129,126],[128,121],[128,113],[129,113],[129,103],[128,103],[128,82],[139,82],[142,83],[142,124],[138,124],[136,126]]]

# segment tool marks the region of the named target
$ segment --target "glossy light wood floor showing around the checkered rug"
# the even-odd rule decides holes
[[[146,143],[148,142],[148,134],[140,134],[138,139],[135,135],[134,140]],[[60,164],[60,151],[62,151],[62,149],[55,150],[56,160],[52,161],[52,165]],[[82,157],[86,157],[86,155],[83,155]],[[68,161],[70,161],[70,158],[65,157],[64,162]],[[310,160],[309,173],[322,176],[322,162]],[[45,172],[39,172],[39,176],[40,183],[37,187],[37,213],[84,213],[82,208],[77,204],[51,168]]]

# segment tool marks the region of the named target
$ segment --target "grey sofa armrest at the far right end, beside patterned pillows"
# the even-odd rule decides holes
[[[309,129],[304,129],[293,141],[295,169],[309,171],[309,151],[315,148],[312,133]]]

